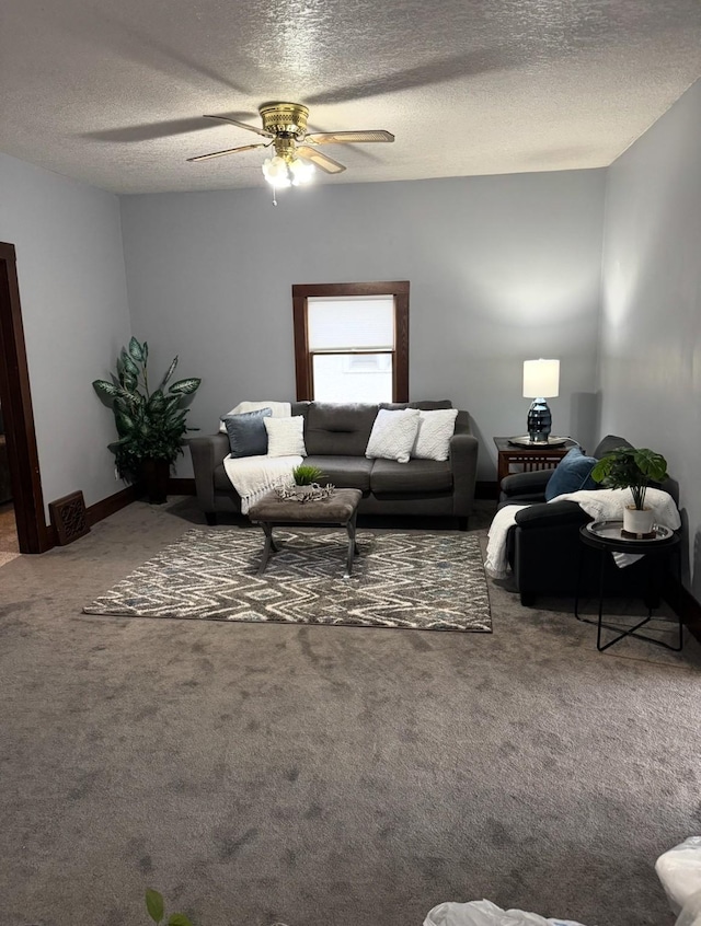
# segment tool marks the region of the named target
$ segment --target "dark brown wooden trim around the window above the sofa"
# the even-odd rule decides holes
[[[394,350],[392,351],[392,402],[409,402],[409,280],[356,283],[295,283],[292,323],[297,401],[313,396],[312,355],[309,351],[307,300],[309,297],[392,296],[394,297]]]

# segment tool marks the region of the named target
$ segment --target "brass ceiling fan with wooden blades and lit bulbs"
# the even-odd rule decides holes
[[[313,165],[327,174],[340,174],[345,171],[344,164],[334,161],[323,151],[320,144],[348,144],[371,141],[394,141],[394,136],[383,129],[366,129],[363,131],[321,131],[307,135],[307,119],[309,109],[301,103],[265,103],[258,108],[263,120],[263,128],[240,123],[229,116],[205,116],[206,119],[218,119],[230,123],[239,128],[254,131],[269,141],[257,144],[242,144],[239,148],[228,148],[226,151],[212,151],[187,158],[188,161],[208,161],[225,154],[237,154],[240,151],[252,151],[254,148],[269,148],[273,146],[275,157],[268,158],[263,164],[265,178],[274,186],[290,186],[309,180]]]

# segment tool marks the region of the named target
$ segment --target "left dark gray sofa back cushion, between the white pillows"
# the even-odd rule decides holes
[[[310,403],[304,428],[307,453],[364,456],[377,410],[377,405],[361,403]]]

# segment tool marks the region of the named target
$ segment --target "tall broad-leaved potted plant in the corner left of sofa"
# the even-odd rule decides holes
[[[158,386],[150,391],[148,379],[149,347],[135,337],[117,357],[112,382],[94,380],[93,386],[104,396],[114,413],[118,439],[108,444],[117,472],[123,478],[141,483],[149,501],[161,505],[168,496],[170,470],[183,453],[186,397],[193,395],[202,380],[191,378],[166,385],[177,366],[173,359]]]

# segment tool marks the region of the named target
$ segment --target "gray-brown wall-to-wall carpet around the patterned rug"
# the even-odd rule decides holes
[[[482,898],[674,923],[653,866],[701,832],[693,638],[598,653],[508,582],[492,635],[81,614],[198,523],[136,502],[0,568],[3,926],[147,923],[147,887],[196,926]]]

